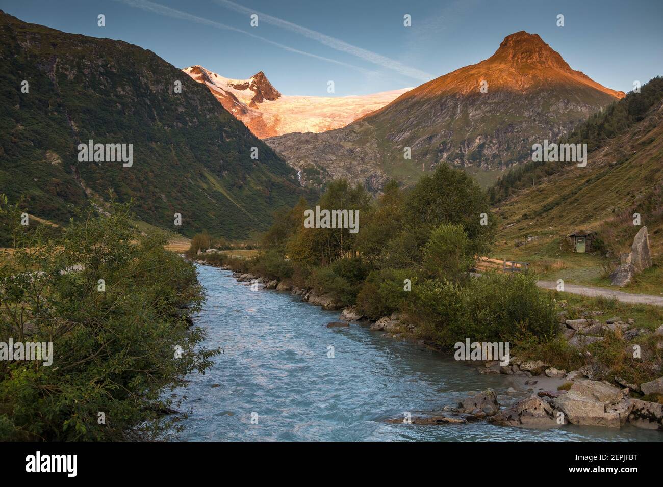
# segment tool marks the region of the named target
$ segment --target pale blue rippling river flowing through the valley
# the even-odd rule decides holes
[[[404,411],[439,411],[473,392],[505,393],[508,376],[382,332],[327,328],[339,311],[296,296],[251,291],[231,272],[198,266],[207,301],[196,325],[221,347],[205,375],[192,374],[180,409],[184,441],[661,441],[656,431],[565,425],[537,430],[487,423],[419,426],[383,422]],[[330,348],[333,347],[333,357]],[[515,398],[526,393],[514,394]],[[515,398],[514,398],[515,396]],[[500,402],[510,396],[500,396]]]

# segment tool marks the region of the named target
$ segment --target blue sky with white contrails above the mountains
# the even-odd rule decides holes
[[[573,69],[613,89],[663,75],[661,0],[0,0],[0,9],[125,40],[178,68],[201,64],[228,78],[263,71],[285,95],[329,96],[328,80],[335,95],[416,86],[488,58],[518,30],[540,34]]]

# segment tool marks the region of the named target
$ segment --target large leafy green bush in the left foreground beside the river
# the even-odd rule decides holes
[[[19,221],[16,207],[3,211]],[[108,217],[80,212],[56,238],[12,231],[14,253],[0,258],[0,341],[50,342],[52,366],[0,361],[0,439],[177,431],[177,415],[163,415],[172,405],[164,393],[204,372],[215,353],[200,349],[204,331],[186,320],[202,303],[194,266],[164,250],[165,235],[133,231],[127,207]]]

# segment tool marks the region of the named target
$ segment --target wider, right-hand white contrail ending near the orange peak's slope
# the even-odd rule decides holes
[[[306,37],[317,40],[318,42],[322,42],[322,44],[330,46],[335,50],[347,52],[348,54],[357,56],[357,58],[361,58],[365,61],[372,62],[373,64],[383,66],[383,68],[388,68],[390,70],[396,71],[400,74],[408,76],[409,78],[414,78],[415,80],[420,80],[420,81],[430,81],[434,78],[434,76],[426,72],[414,68],[409,68],[408,66],[405,66],[404,64],[396,60],[387,58],[386,56],[382,56],[381,54],[377,54],[375,52],[371,52],[369,50],[357,46],[353,46],[352,44],[348,44],[343,40],[328,36],[326,34],[322,34],[322,32],[311,30],[310,28],[302,27],[301,25],[296,25],[291,22],[284,21],[276,17],[272,17],[271,15],[267,15],[265,13],[260,13],[255,10],[247,9],[247,7],[237,5],[237,3],[231,2],[229,0],[214,0],[214,1],[219,5],[228,7],[229,9],[239,13],[247,13],[247,14],[255,13],[256,15],[258,15],[259,21],[267,22],[268,24],[276,25],[277,27],[282,27],[288,30],[292,30],[292,32],[297,32],[298,34],[302,34]]]

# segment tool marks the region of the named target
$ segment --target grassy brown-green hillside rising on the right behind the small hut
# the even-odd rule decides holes
[[[534,236],[601,230],[601,238],[628,248],[648,228],[652,252],[663,251],[663,78],[642,85],[577,126],[562,142],[587,143],[587,166],[528,162],[493,188],[500,195],[499,240],[511,245]]]

